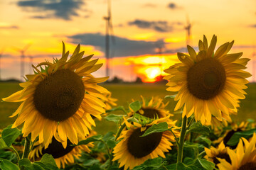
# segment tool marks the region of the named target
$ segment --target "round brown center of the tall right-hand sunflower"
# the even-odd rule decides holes
[[[188,91],[196,98],[208,100],[223,90],[225,79],[223,65],[213,58],[207,58],[188,69]]]

